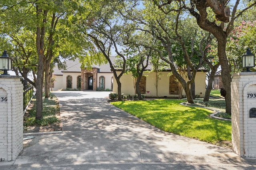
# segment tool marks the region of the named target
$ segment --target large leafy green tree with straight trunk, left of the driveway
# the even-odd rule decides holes
[[[22,59],[23,68],[18,68],[26,77],[27,72],[35,71],[34,86],[36,87],[36,119],[42,119],[42,88],[44,72],[46,72],[46,97],[49,94],[50,63],[60,52],[75,57],[81,54],[87,44],[78,39],[80,32],[74,27],[67,27],[69,17],[80,6],[78,1],[66,0],[34,0],[34,1],[1,1],[0,19],[5,27],[0,28],[4,38],[12,39],[12,45],[17,51],[18,60]],[[76,8],[76,9],[75,9]],[[61,20],[61,22],[59,22]],[[60,23],[60,25],[58,25]],[[8,25],[8,26],[6,26]],[[18,35],[18,36],[17,36]],[[71,36],[72,35],[72,36]],[[26,38],[22,38],[26,37]],[[65,39],[66,37],[73,37]],[[66,43],[71,42],[71,43]],[[77,43],[78,42],[78,43]],[[83,42],[83,41],[82,41]],[[30,49],[31,48],[31,49]],[[20,56],[18,56],[20,55]],[[30,61],[37,61],[28,67]],[[28,69],[29,68],[29,69]],[[21,71],[22,70],[22,71]]]

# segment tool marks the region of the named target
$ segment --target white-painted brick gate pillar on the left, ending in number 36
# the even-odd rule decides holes
[[[23,149],[21,76],[0,75],[0,161],[15,160]]]

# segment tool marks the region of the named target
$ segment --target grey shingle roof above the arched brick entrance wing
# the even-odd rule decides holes
[[[115,57],[112,56],[110,57],[111,61],[114,61]],[[63,75],[63,72],[81,72],[81,63],[79,63],[79,59],[73,60],[67,60],[65,61],[66,63],[66,69],[65,70],[59,70],[58,66],[55,66],[53,68],[53,73],[54,75]],[[102,64],[100,66],[98,65],[92,65],[92,68],[98,68],[100,69],[99,72],[111,72],[109,63],[107,64]]]

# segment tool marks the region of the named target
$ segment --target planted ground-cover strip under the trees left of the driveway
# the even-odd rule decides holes
[[[25,114],[23,127],[24,130],[27,129],[28,126],[47,126],[52,123],[58,122],[58,118],[56,117],[56,110],[58,109],[58,98],[53,96],[50,98],[43,98],[43,110],[42,116],[43,119],[36,120],[36,96],[32,99],[32,108],[28,109],[28,114]]]

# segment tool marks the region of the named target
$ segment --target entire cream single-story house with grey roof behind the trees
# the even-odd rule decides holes
[[[114,57],[112,57],[114,61]],[[144,72],[144,76],[140,80],[140,92],[144,96],[167,96],[167,97],[178,97],[179,83],[178,80],[172,75],[170,68],[166,68],[160,72],[158,81],[158,95],[156,95],[156,76],[154,72],[149,72],[151,66],[147,67],[147,72]],[[81,89],[84,90],[97,90],[109,89],[113,92],[117,92],[117,83],[111,72],[109,64],[101,66],[93,65],[91,70],[86,68],[81,69],[79,60],[66,61],[66,70],[59,70],[56,66],[53,74],[56,76],[55,82],[52,84],[52,90],[60,89]],[[117,70],[117,74],[120,71]],[[195,84],[196,84],[196,95],[204,97],[206,87],[206,72],[204,70],[198,70],[196,73]],[[120,78],[121,81],[121,92],[123,94],[135,94],[134,79],[132,74],[123,74]],[[185,95],[183,90],[182,95]]]

